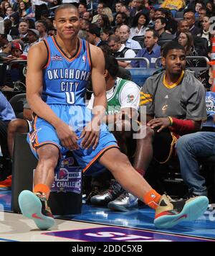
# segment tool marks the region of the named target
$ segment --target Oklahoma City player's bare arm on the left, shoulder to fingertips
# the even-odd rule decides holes
[[[47,64],[47,48],[44,42],[39,42],[29,50],[27,65],[27,101],[30,108],[40,118],[46,120],[56,129],[57,135],[64,147],[77,149],[77,136],[70,127],[62,122],[54,111],[42,101],[43,68]]]

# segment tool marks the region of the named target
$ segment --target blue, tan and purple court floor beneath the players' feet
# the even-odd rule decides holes
[[[51,231],[42,232],[34,221],[11,213],[11,191],[0,191],[0,242],[215,242],[215,208],[195,222],[183,222],[173,229],[156,229],[153,210],[141,207],[115,212],[83,204],[82,214],[57,216]]]

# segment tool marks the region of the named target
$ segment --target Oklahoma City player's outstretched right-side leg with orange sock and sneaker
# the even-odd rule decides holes
[[[159,195],[130,165],[128,157],[118,149],[112,148],[106,151],[100,158],[100,163],[113,173],[125,190],[156,209],[154,223],[158,228],[167,229],[181,221],[194,221],[204,214],[209,205],[206,196],[191,198],[187,201],[173,201],[168,196]]]

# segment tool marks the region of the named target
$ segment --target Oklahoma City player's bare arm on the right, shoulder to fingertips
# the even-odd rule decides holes
[[[95,97],[92,109],[94,118],[82,132],[81,138],[83,137],[83,140],[81,145],[86,149],[91,146],[95,149],[99,142],[100,123],[103,116],[105,116],[105,109],[107,106],[106,83],[104,77],[105,58],[102,50],[94,45],[90,45],[90,52],[92,58],[92,90]]]

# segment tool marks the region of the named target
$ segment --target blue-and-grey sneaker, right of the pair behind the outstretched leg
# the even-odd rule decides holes
[[[118,198],[108,204],[108,208],[116,211],[129,211],[138,207],[138,198],[133,194],[124,191]]]

